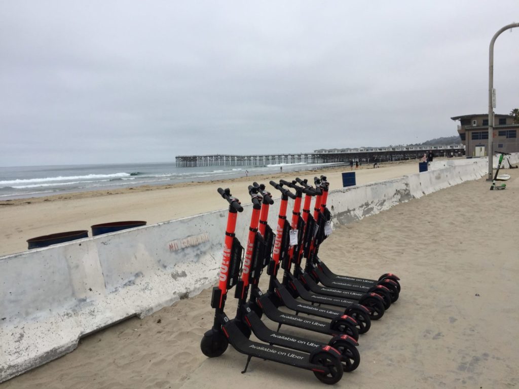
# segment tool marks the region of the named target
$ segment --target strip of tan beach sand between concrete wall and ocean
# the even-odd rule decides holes
[[[297,176],[312,180],[315,175],[328,177],[331,188],[342,187],[342,172],[350,168],[298,172]],[[418,171],[416,161],[359,166],[357,185],[413,174]],[[69,193],[49,197],[0,201],[0,256],[27,249],[26,240],[52,233],[88,230],[90,226],[119,220],[145,220],[159,223],[203,212],[222,209],[217,196],[218,186],[231,187],[233,195],[247,200],[247,187],[254,180],[292,180],[293,173],[234,178],[226,181],[193,182],[164,186]]]

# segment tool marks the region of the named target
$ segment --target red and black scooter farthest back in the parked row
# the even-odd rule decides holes
[[[331,213],[326,207],[330,184],[326,181],[325,176],[321,176],[321,179],[315,177],[314,180],[316,186],[319,186],[322,189],[319,224],[322,226],[322,229],[324,229],[324,225],[329,223],[331,220]],[[312,274],[312,277],[314,277],[317,282],[330,287],[359,291],[373,288],[376,285],[383,285],[389,289],[391,302],[398,300],[401,289],[399,283],[400,278],[393,273],[385,273],[381,275],[378,280],[338,275],[333,273],[317,255],[319,244],[324,239],[326,239],[326,235],[321,235],[321,239],[316,245],[316,249],[311,260],[307,261],[307,270],[310,274]]]

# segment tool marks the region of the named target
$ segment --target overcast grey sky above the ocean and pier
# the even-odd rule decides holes
[[[517,0],[0,0],[0,166],[385,146],[485,113]],[[519,107],[519,29],[495,48]]]

